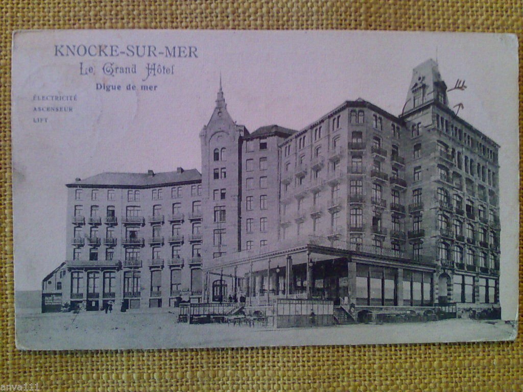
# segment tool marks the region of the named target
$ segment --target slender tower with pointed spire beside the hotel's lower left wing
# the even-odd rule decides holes
[[[246,134],[227,110],[220,77],[214,111],[200,132],[205,268],[212,259],[241,250],[241,143]]]

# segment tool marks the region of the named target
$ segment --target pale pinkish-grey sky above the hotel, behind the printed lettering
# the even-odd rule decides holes
[[[196,47],[197,57],[55,55],[55,45]],[[134,48],[134,46],[133,46]],[[361,97],[401,113],[412,69],[438,61],[459,115],[501,145],[501,300],[517,312],[518,56],[508,34],[368,31],[42,31],[15,35],[13,192],[15,288],[38,290],[65,260],[66,188],[103,171],[200,169],[198,134],[212,114],[222,78],[229,113],[251,132],[279,124],[302,129]],[[60,53],[58,53],[60,54]],[[94,74],[81,75],[89,67]],[[136,66],[110,76],[103,66]],[[146,65],[172,73],[146,76]],[[174,68],[171,68],[174,65]],[[97,90],[97,83],[120,85]],[[137,90],[127,90],[127,85]],[[142,91],[141,86],[156,86]],[[154,87],[152,87],[154,88]],[[36,113],[35,95],[76,96],[72,112]],[[49,102],[48,102],[49,103]],[[51,105],[53,106],[53,105]],[[39,121],[47,118],[47,122]]]

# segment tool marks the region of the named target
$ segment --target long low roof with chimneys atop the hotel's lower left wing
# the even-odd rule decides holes
[[[162,173],[118,173],[103,172],[83,180],[67,184],[67,187],[114,187],[114,188],[147,188],[161,185],[195,183],[201,181],[197,169],[167,171]]]

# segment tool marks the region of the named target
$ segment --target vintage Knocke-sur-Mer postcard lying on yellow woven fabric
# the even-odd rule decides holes
[[[17,347],[513,340],[517,45],[15,32]]]

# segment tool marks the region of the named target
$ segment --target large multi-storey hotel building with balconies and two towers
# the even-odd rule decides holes
[[[250,133],[222,88],[201,169],[67,184],[66,261],[42,310],[322,298],[499,307],[498,148],[449,107],[438,65],[403,112],[357,99],[301,130]]]

